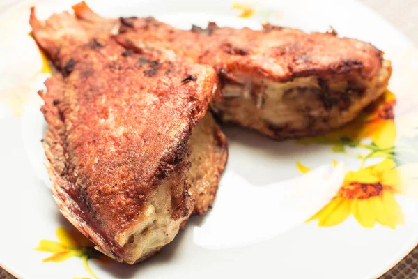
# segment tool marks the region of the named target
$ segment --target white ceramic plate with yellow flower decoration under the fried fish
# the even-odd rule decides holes
[[[180,28],[203,26],[208,20],[258,28],[266,18],[304,31],[325,31],[332,25],[340,36],[385,50],[394,67],[389,84],[394,96],[387,93],[374,112],[364,114],[367,120],[357,120],[366,133],[357,142],[330,136],[274,142],[248,130],[225,128],[229,163],[213,209],[206,216],[192,217],[160,254],[134,266],[87,260],[87,255],[97,253],[86,248],[90,244],[71,230],[54,204],[42,164],[45,121],[36,94],[48,74],[42,73],[40,53],[28,36],[29,7],[36,2],[3,13],[0,265],[4,269],[19,278],[376,278],[417,245],[417,51],[356,1],[259,2],[252,4],[254,15],[249,18],[238,17],[242,11],[232,10],[226,0],[88,4],[107,17],[153,15]],[[46,18],[68,10],[72,3],[38,1],[37,12]],[[344,133],[350,131],[338,135]],[[394,162],[398,167],[393,168]],[[313,170],[302,174],[307,167]],[[314,220],[307,222],[312,216]],[[42,262],[47,257],[49,261]]]

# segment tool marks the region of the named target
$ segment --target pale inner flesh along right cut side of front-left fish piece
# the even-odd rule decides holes
[[[190,186],[189,195],[195,200],[196,214],[206,213],[215,199],[228,149],[226,137],[210,112],[193,128],[189,148],[189,156],[180,163],[183,171],[162,182],[150,196],[150,205],[144,210],[144,219],[125,234],[125,240],[121,244],[127,251],[128,259],[134,261],[141,255],[147,255],[136,261],[141,262],[154,255],[171,242],[178,229],[185,225],[187,218],[180,218],[177,222],[173,222],[171,218],[170,193],[173,185],[187,181]],[[188,162],[191,163],[189,170]]]

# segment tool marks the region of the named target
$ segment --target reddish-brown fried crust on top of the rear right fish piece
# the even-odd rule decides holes
[[[165,47],[212,65],[220,76],[231,81],[242,74],[288,82],[296,77],[351,72],[368,79],[382,65],[383,53],[369,43],[271,24],[252,30],[219,28],[210,23],[206,29],[183,31],[148,17],[123,20],[121,32],[148,47]]]

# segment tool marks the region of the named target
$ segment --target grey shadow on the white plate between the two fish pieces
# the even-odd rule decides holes
[[[277,141],[237,126],[222,128],[229,141],[226,172],[233,171],[254,186],[267,186],[277,181],[300,176],[296,161],[319,162],[318,154],[328,153],[325,145],[296,144],[294,140]],[[329,163],[327,158],[323,163]],[[221,181],[222,186],[222,181]]]

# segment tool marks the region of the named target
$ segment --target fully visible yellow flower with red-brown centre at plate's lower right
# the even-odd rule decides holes
[[[302,172],[309,170],[300,163],[297,167]],[[308,221],[317,219],[320,227],[331,227],[353,215],[363,227],[380,223],[395,229],[404,223],[396,194],[403,194],[400,175],[394,161],[385,159],[377,165],[348,172],[332,201]]]

